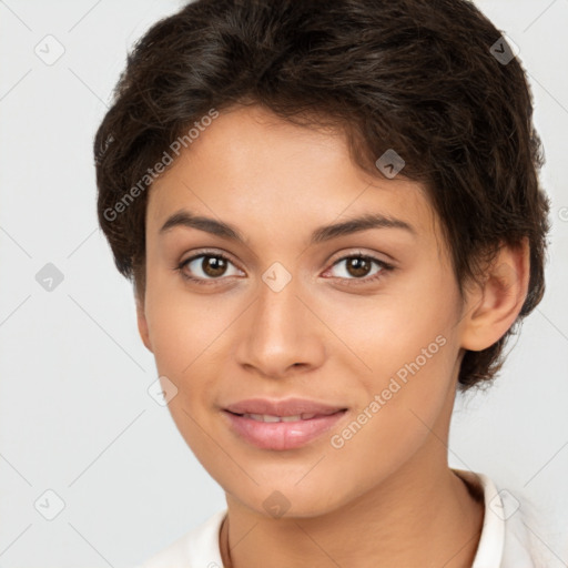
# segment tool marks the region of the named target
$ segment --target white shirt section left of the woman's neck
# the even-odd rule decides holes
[[[225,515],[215,513],[136,568],[223,568],[219,531]]]

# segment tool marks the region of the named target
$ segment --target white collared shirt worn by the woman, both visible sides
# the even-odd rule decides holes
[[[474,471],[453,469],[484,493],[485,516],[471,568],[548,568],[544,547],[532,537],[532,515],[507,489]],[[219,534],[226,509],[215,513],[138,568],[223,568]],[[528,520],[528,523],[527,523]]]

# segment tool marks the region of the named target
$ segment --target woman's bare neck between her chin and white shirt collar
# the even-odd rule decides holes
[[[424,452],[432,457],[432,448]],[[323,516],[266,519],[230,497],[227,505],[220,535],[225,568],[470,568],[484,519],[483,500],[446,463],[416,468],[415,460]]]

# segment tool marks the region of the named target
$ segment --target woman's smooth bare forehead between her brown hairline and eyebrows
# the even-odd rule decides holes
[[[292,124],[258,106],[223,112],[203,128],[154,182],[148,207],[154,233],[182,209],[273,235],[365,213],[406,221],[418,234],[435,231],[420,184],[371,176],[353,162],[343,132]]]

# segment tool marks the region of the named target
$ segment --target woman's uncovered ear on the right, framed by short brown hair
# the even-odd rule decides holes
[[[501,245],[483,283],[470,291],[460,323],[462,347],[481,351],[515,323],[527,297],[530,276],[528,239],[517,247]]]

